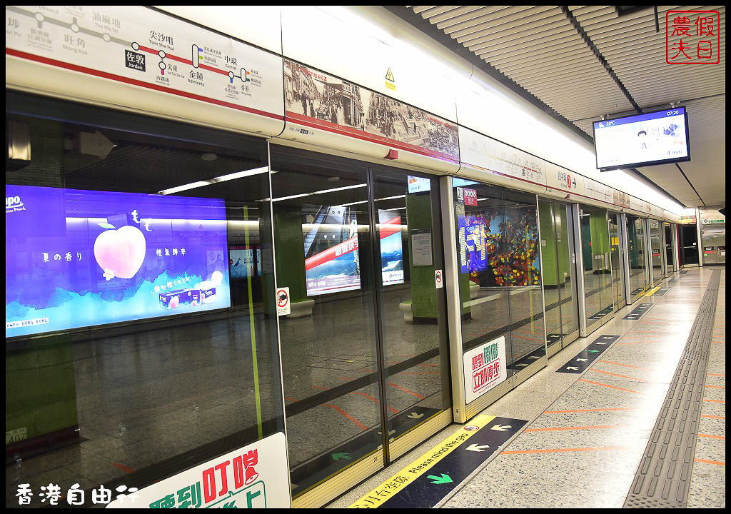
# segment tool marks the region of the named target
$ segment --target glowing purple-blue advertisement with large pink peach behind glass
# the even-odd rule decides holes
[[[230,306],[223,200],[5,186],[5,336]]]

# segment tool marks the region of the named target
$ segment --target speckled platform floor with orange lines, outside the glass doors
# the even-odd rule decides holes
[[[481,413],[495,434],[501,418],[523,426],[496,449],[478,442],[490,456],[474,469],[448,458],[470,445],[444,447],[464,430],[452,425],[329,507],[725,507],[725,281],[725,268],[673,273],[558,352]]]

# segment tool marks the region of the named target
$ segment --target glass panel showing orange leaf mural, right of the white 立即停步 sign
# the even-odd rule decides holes
[[[545,352],[540,242],[536,197],[506,189],[504,281],[510,290],[510,323],[515,369],[520,371],[534,352]]]

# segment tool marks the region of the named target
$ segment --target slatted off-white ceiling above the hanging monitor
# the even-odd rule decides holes
[[[407,7],[590,136],[592,122],[602,116],[636,112],[561,6]],[[726,8],[658,6],[659,32],[652,6],[623,16],[614,6],[568,8],[641,109],[671,102],[688,107],[692,161],[681,164],[687,180],[675,165],[642,167],[640,173],[688,206],[725,204]],[[719,11],[720,64],[666,63],[670,10]],[[684,42],[693,46],[699,39]]]

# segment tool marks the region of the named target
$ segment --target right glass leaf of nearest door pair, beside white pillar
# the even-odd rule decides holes
[[[439,181],[374,170],[378,285],[389,432],[398,439],[451,407]]]

